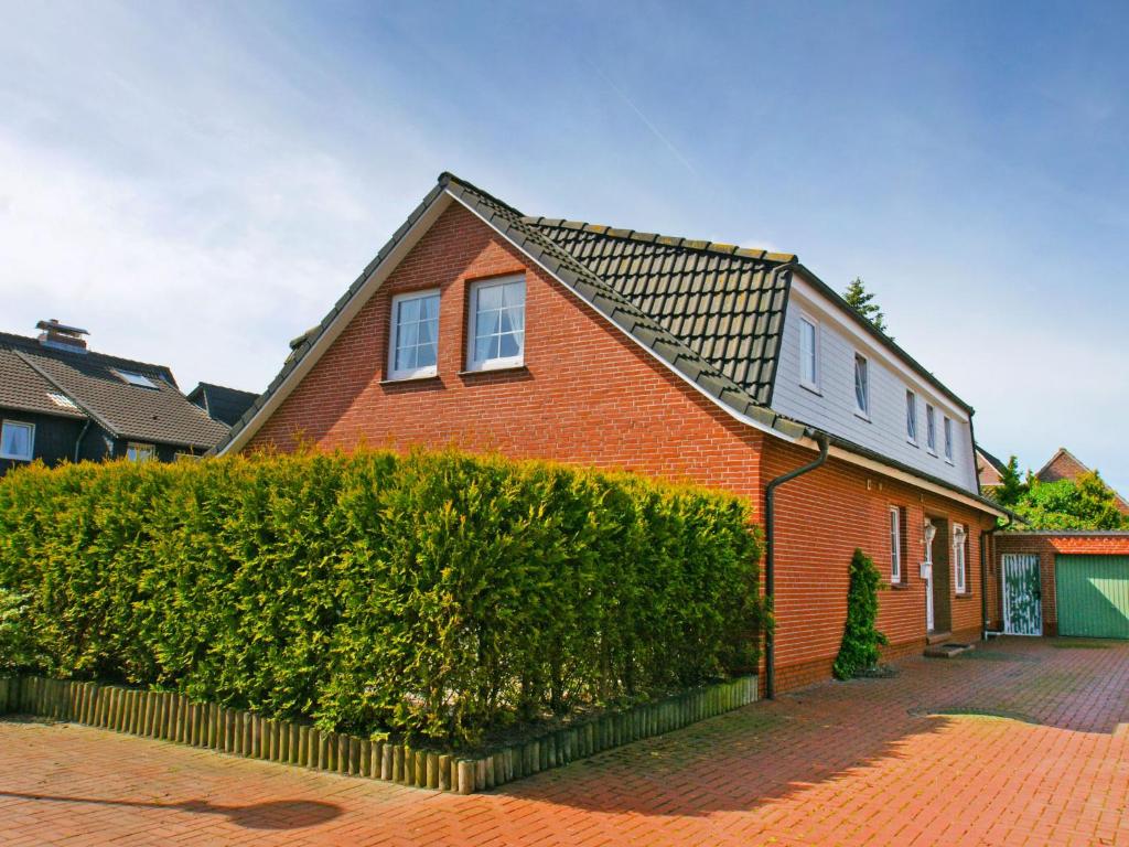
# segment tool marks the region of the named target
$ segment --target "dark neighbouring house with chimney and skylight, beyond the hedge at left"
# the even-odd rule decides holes
[[[0,474],[35,459],[167,462],[227,434],[164,365],[88,350],[85,330],[54,320],[38,329],[38,338],[0,333]]]

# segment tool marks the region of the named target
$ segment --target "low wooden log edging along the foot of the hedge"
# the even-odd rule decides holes
[[[360,739],[323,732],[308,724],[194,702],[170,691],[44,676],[0,678],[0,715],[38,715],[231,756],[458,794],[490,791],[612,748],[681,730],[756,698],[756,676],[741,676],[610,711],[509,746],[458,754],[392,743],[380,735]]]

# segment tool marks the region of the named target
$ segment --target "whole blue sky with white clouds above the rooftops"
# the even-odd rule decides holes
[[[3,3],[0,330],[261,390],[449,169],[798,253],[1129,492],[1123,3]]]

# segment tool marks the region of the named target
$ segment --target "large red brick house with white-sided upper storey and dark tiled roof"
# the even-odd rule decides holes
[[[778,689],[830,675],[856,548],[892,588],[887,656],[983,625],[1003,513],[979,492],[972,409],[794,255],[527,217],[444,174],[218,451],[300,439],[747,497],[772,541]],[[767,521],[770,483],[821,448]]]

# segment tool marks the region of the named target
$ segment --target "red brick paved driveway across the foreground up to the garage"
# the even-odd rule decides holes
[[[490,794],[0,721],[0,844],[1129,845],[1129,644],[1003,639]]]

